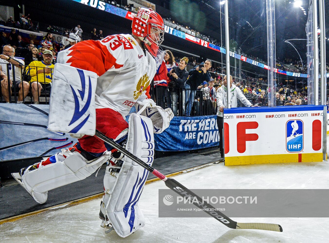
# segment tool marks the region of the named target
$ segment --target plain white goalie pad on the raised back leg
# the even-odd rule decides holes
[[[58,157],[66,156],[63,161]],[[109,158],[111,152],[98,157],[97,159],[87,161],[80,153],[70,152],[67,148],[56,154],[56,163],[46,166],[40,165],[37,169],[24,172],[22,176],[19,173],[13,173],[14,179],[25,188],[31,196],[40,204],[46,202],[48,191],[76,181],[81,181]]]

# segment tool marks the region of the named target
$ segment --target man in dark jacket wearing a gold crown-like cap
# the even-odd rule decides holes
[[[183,103],[185,102],[185,82],[189,77],[189,72],[185,70],[187,63],[189,62],[189,58],[184,56],[178,66],[173,66],[172,69],[167,73],[167,76],[170,77],[171,82],[169,82],[169,88],[172,88],[171,95],[169,94],[169,99],[172,100],[172,111],[174,115],[177,115],[177,102],[179,102],[179,113],[180,115],[185,114],[185,106]],[[171,107],[170,107],[171,108]]]

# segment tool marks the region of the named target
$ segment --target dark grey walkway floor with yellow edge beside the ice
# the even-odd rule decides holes
[[[191,170],[209,166],[221,162],[218,150],[203,153],[182,153],[172,156],[157,158],[153,166],[166,176],[175,176]],[[45,204],[38,204],[34,199],[18,184],[5,184],[0,188],[0,224],[15,221],[20,218],[38,214],[46,210],[74,205],[103,195],[103,172],[105,165],[98,172],[97,177],[89,176],[85,180],[56,188],[48,193],[48,200]],[[146,184],[157,181],[154,175],[149,175]]]

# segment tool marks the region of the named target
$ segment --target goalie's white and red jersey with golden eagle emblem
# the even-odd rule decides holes
[[[96,108],[111,108],[123,117],[137,100],[146,99],[146,88],[156,73],[156,62],[130,34],[79,42],[59,53],[57,62],[95,72]]]

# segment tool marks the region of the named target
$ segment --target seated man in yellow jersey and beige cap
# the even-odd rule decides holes
[[[42,57],[43,61],[31,62],[26,70],[26,74],[31,76],[30,84],[35,104],[39,103],[39,96],[42,90],[50,91],[51,79],[53,77],[53,53],[50,50],[45,50]]]

